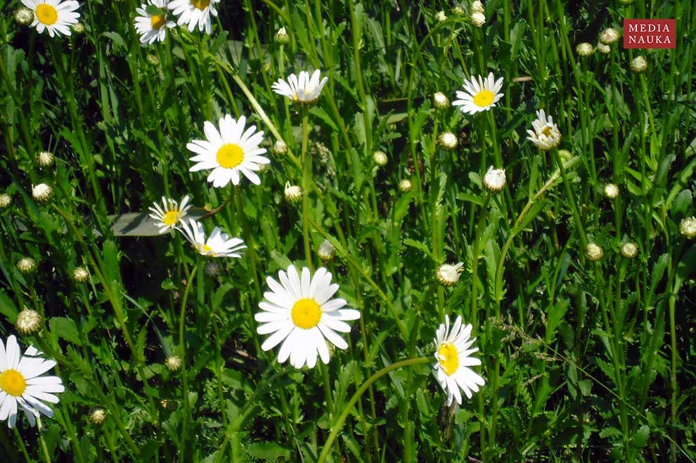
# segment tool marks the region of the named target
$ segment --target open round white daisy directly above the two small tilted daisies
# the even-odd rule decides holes
[[[266,148],[259,148],[264,132],[254,133],[255,125],[245,130],[246,121],[244,116],[235,120],[226,115],[220,119],[220,131],[212,122],[206,121],[203,131],[207,140],[194,140],[186,145],[186,148],[198,153],[191,158],[197,164],[189,171],[213,169],[208,181],[214,187],[223,187],[230,181],[239,185],[240,172],[254,185],[260,185],[261,179],[254,171],[259,170],[259,164],[269,164],[271,160],[261,156],[266,152]]]

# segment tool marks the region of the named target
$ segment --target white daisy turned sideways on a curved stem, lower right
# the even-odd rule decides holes
[[[447,405],[452,405],[452,400],[457,400],[461,405],[464,391],[468,398],[472,392],[478,392],[479,386],[486,384],[484,379],[469,367],[481,365],[481,360],[471,357],[478,348],[470,348],[476,338],[470,338],[472,326],[462,326],[462,318],[457,317],[452,330],[449,329],[449,316],[445,315],[444,325],[437,329],[435,338],[435,359],[437,363],[434,369],[437,371],[437,381],[447,393]]]

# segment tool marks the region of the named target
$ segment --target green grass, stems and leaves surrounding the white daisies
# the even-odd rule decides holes
[[[84,32],[50,38],[0,0],[0,332],[39,312],[20,344],[65,385],[40,429],[22,412],[2,427],[6,461],[696,459],[696,247],[680,231],[696,213],[690,2],[491,0],[479,28],[470,4],[245,0],[217,4],[210,35],[179,27],[144,47],[136,1],[80,3]],[[675,48],[579,56],[624,18],[676,18]],[[328,77],[316,105],[271,90],[314,69]],[[435,107],[489,72],[504,78],[496,107]],[[541,109],[562,134],[548,151],[527,139]],[[261,185],[189,171],[187,143],[226,114],[264,131]],[[483,188],[491,165],[501,193]],[[32,197],[39,183],[49,201]],[[190,195],[243,257],[158,236],[144,212],[163,195]],[[17,267],[27,256],[33,272]],[[460,261],[440,285],[439,266]],[[328,365],[261,349],[266,278],[291,263],[326,266],[361,313]],[[486,380],[461,405],[433,373],[445,315],[472,325]]]

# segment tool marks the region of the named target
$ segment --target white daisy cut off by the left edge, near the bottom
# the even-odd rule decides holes
[[[10,428],[17,422],[17,405],[27,414],[34,426],[39,413],[53,417],[53,410],[43,401],[58,403],[53,393],[65,391],[57,376],[41,376],[56,366],[55,360],[46,360],[33,346],[24,355],[14,336],[7,345],[0,340],[0,421],[6,419]]]

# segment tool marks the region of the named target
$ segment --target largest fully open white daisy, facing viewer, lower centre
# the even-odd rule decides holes
[[[281,270],[278,277],[281,282],[266,278],[271,291],[264,293],[266,301],[259,302],[262,312],[254,315],[261,323],[257,333],[271,334],[261,348],[268,351],[283,341],[278,362],[290,358],[290,364],[298,369],[305,363],[314,368],[317,355],[323,363],[329,362],[327,339],[337,348],[348,348],[336,332],[350,332],[345,320],[359,319],[360,312],[342,308],[347,304],[345,299],[331,299],[338,291],[338,285],[331,284],[331,273],[321,267],[313,277],[304,267],[299,275],[290,265],[288,273]]]

